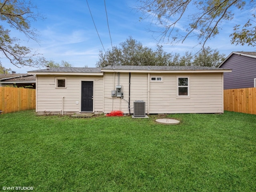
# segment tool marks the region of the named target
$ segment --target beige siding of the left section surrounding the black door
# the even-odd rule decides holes
[[[65,77],[67,88],[56,88],[56,78]],[[94,81],[94,112],[102,112],[103,77],[98,76],[37,76],[37,112],[80,112],[81,82]],[[78,102],[78,104],[76,104]]]

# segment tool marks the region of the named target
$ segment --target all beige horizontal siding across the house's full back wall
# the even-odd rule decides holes
[[[94,82],[94,111],[109,113],[121,110],[128,114],[129,72],[120,72],[119,85],[124,98],[113,98],[112,90],[118,85],[118,73],[105,72],[104,76],[36,76],[36,111],[61,112],[64,97],[64,112],[80,112],[81,82]],[[66,78],[66,88],[56,88],[56,78]],[[131,73],[130,112],[133,102],[144,100],[146,113],[222,113],[223,112],[223,73]],[[151,81],[151,77],[161,77],[161,82]],[[189,78],[189,96],[177,96],[177,77]],[[149,90],[148,90],[149,83]],[[149,94],[149,103],[148,103]],[[76,104],[78,102],[78,104]],[[149,109],[148,109],[149,104]],[[104,105],[104,106],[103,106]]]

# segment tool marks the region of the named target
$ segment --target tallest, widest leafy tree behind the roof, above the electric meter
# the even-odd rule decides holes
[[[130,36],[125,42],[120,43],[120,47],[113,46],[113,49],[108,49],[105,54],[100,51],[99,61],[96,64],[97,67],[114,64],[168,66],[172,65],[172,55],[165,52],[162,46],[157,45],[156,50],[152,50]]]

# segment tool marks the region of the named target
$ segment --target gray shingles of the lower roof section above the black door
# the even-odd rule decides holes
[[[57,68],[50,68],[50,70],[47,69],[39,69],[29,72],[76,72],[76,73],[100,73],[100,68],[86,68],[86,67],[57,67]]]

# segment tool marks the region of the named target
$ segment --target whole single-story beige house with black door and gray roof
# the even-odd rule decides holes
[[[107,66],[35,70],[38,114],[223,113],[222,68],[199,66]]]

